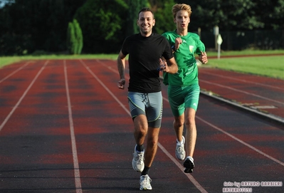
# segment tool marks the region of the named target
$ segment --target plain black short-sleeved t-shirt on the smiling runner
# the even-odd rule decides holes
[[[172,48],[164,36],[152,33],[149,37],[140,33],[125,38],[122,53],[129,54],[130,82],[128,91],[156,93],[161,91],[159,81],[159,58],[168,60],[173,56]]]

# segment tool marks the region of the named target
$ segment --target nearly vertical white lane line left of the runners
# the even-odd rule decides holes
[[[74,134],[72,109],[71,109],[71,102],[70,102],[70,95],[69,95],[69,86],[68,86],[68,76],[67,76],[67,69],[66,69],[66,61],[64,61],[64,75],[65,75],[66,97],[67,97],[67,103],[68,103],[70,135],[71,135],[71,142],[72,142],[75,188],[76,188],[76,193],[82,193],[82,184],[81,184],[81,180],[80,180],[80,168],[79,168],[79,163],[78,163],[78,155],[77,155],[76,140],[75,140],[75,134]]]

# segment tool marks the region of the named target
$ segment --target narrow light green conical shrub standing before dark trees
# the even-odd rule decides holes
[[[75,19],[68,24],[67,48],[71,54],[80,54],[83,48],[83,34],[78,21]]]

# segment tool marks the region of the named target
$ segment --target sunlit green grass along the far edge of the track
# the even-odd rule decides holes
[[[236,57],[222,58],[222,56],[243,56],[243,55],[261,55],[270,54],[271,56],[258,57]],[[273,56],[273,54],[282,54],[282,56]],[[208,56],[217,56],[216,52],[208,52]],[[0,57],[0,68],[18,61],[26,60],[52,60],[52,59],[110,59],[115,60],[117,54],[94,54],[94,55],[49,55],[49,56],[7,56]],[[229,71],[238,71],[241,73],[252,73],[264,75],[272,78],[284,80],[284,50],[278,51],[223,51],[221,58],[210,58],[206,67],[221,68]]]

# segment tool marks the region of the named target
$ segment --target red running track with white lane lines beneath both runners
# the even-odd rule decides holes
[[[218,76],[208,73],[199,70],[201,88],[225,99],[241,82],[225,95],[219,92],[233,73],[222,73],[222,89],[214,88]],[[117,89],[118,78],[115,61],[107,60],[26,61],[0,68],[0,192],[139,192],[127,90]],[[284,191],[283,125],[208,95],[201,95],[196,114],[196,168],[185,174],[174,157],[172,114],[167,87],[162,89],[152,192],[222,192],[234,182],[274,182],[282,186],[244,187]]]

